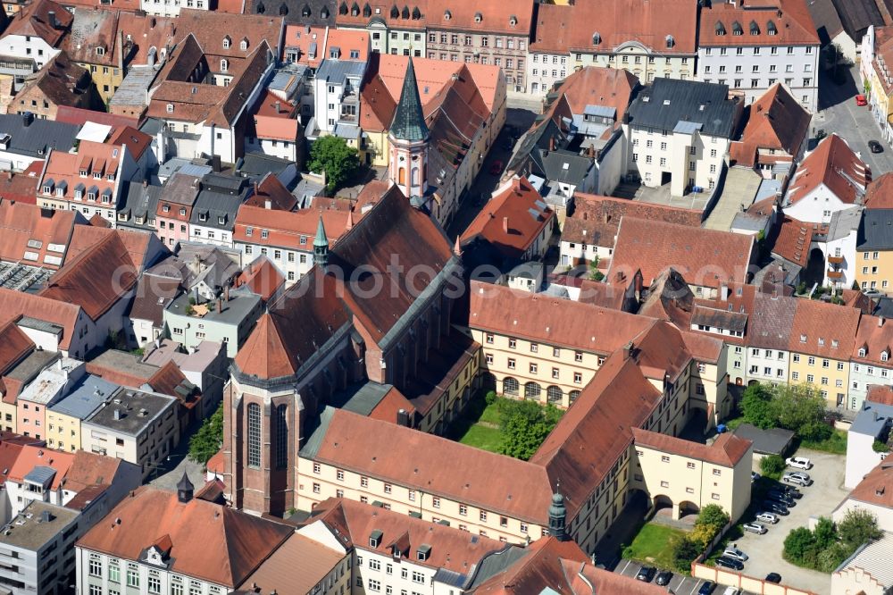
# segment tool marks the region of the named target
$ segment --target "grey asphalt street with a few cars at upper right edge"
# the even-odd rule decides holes
[[[843,85],[838,85],[822,74],[819,82],[821,111],[814,115],[811,136],[821,129],[846,139],[850,147],[861,153],[863,161],[872,168],[872,178],[878,178],[881,173],[893,172],[893,147],[883,141],[880,125],[875,122],[868,106],[855,105],[855,96],[862,93],[858,68],[854,66],[850,69],[845,79]],[[884,152],[872,153],[868,149],[869,140],[880,141]]]

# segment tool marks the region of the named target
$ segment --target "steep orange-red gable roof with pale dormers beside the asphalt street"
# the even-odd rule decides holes
[[[843,203],[853,205],[870,180],[868,166],[855,155],[847,141],[831,134],[800,163],[790,181],[785,202],[796,203],[824,184]]]

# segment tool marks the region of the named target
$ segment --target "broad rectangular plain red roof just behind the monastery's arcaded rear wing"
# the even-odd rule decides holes
[[[747,281],[754,239],[729,231],[705,230],[676,223],[623,217],[611,259],[613,281],[642,272],[646,285],[667,268],[680,272],[690,285],[719,288]]]

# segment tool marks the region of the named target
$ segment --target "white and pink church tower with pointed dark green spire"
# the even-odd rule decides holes
[[[421,198],[428,191],[428,142],[430,130],[421,111],[419,86],[413,58],[406,66],[400,103],[388,130],[390,179],[408,198]]]

